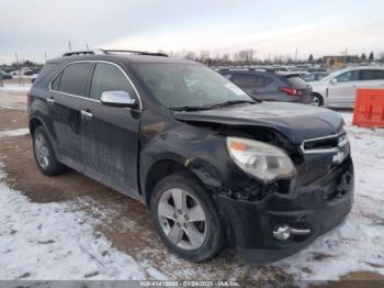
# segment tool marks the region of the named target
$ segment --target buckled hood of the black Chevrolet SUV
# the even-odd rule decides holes
[[[339,133],[345,123],[341,115],[328,109],[278,102],[174,112],[174,117],[184,122],[270,128],[284,134],[294,144]]]

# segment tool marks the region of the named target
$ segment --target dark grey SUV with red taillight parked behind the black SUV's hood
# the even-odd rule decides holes
[[[219,73],[256,100],[312,102],[312,89],[297,73],[255,69],[225,69]]]

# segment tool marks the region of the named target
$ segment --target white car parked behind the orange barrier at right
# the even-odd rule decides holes
[[[358,88],[384,89],[384,67],[346,68],[309,85],[313,104],[353,107]]]

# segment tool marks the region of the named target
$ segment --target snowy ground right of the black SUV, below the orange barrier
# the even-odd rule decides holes
[[[341,228],[276,265],[302,279],[337,279],[359,270],[384,275],[384,130],[351,126],[352,114],[341,114],[354,163],[354,203]]]

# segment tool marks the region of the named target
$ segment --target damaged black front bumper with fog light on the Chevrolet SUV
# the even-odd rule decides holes
[[[291,182],[256,201],[225,193],[215,193],[215,200],[237,255],[248,263],[275,262],[343,222],[353,201],[352,160],[309,185]]]

